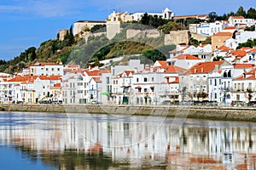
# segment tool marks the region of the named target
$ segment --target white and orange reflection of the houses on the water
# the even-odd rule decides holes
[[[17,119],[12,116],[9,120]],[[87,153],[92,145],[101,144],[104,155],[112,156],[113,161],[129,162],[132,167],[141,167],[143,162],[149,165],[165,162],[170,167],[211,167],[218,163],[227,168],[247,159],[248,169],[253,169],[250,156],[256,151],[255,128],[240,124],[214,122],[212,127],[176,128],[168,123],[170,119],[156,117],[113,119],[112,116],[108,119],[108,116],[94,116],[95,120],[91,120],[91,116],[84,114],[83,119],[73,115],[69,119],[58,116],[49,120],[44,114],[37,113],[37,116],[31,122],[40,126],[22,124],[13,128],[7,125],[0,140],[40,153],[69,149]]]

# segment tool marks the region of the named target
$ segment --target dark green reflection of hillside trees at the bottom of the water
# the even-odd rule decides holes
[[[15,146],[16,150],[20,150],[22,156],[38,161],[41,159],[43,164],[50,167],[58,167],[59,169],[108,169],[109,167],[119,167],[119,164],[112,162],[111,157],[102,154],[86,154],[77,150],[65,150],[64,152],[49,152],[44,150],[38,154],[38,150],[32,150],[23,145]]]

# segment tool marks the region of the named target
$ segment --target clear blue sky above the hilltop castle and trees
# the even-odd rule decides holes
[[[254,0],[0,0],[0,59],[13,59],[29,47],[55,38],[77,20],[105,20],[113,9],[161,12],[168,7],[174,14],[217,14],[255,8]]]

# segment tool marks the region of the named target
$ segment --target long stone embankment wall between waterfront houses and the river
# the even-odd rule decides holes
[[[182,116],[216,121],[256,122],[256,108],[195,105],[0,105],[0,111],[90,113],[127,116]]]

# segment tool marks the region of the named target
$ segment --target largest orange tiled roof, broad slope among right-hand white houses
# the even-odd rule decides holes
[[[209,73],[215,68],[215,65],[221,65],[224,61],[207,61],[203,63],[198,63],[192,66],[188,71],[183,74],[197,74],[197,73]]]

